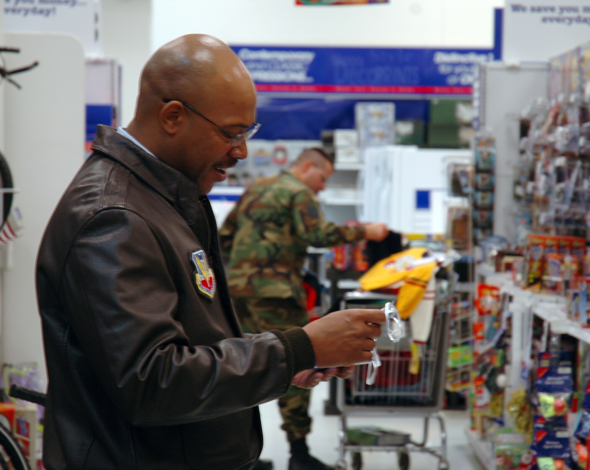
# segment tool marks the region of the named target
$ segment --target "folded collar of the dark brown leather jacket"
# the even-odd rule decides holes
[[[111,127],[99,125],[92,150],[109,155],[132,171],[140,180],[158,191],[193,225],[199,199],[199,187],[186,176],[158,158],[146,153]]]

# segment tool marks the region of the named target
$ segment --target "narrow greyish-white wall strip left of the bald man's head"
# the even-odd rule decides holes
[[[135,112],[137,85],[143,64],[152,52],[152,3],[149,0],[102,0],[103,51],[122,65],[122,118]]]

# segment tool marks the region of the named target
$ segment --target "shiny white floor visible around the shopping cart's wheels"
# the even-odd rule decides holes
[[[307,437],[307,443],[314,456],[329,465],[334,465],[338,458],[337,431],[339,418],[325,416],[323,413],[324,400],[329,395],[327,383],[320,383],[312,392],[310,414],[313,418],[312,433]],[[263,459],[271,459],[275,470],[287,470],[289,460],[289,445],[286,435],[280,425],[282,423],[276,402],[265,403],[260,407],[264,431]],[[450,470],[481,470],[476,457],[473,455],[465,436],[468,424],[466,412],[444,412],[448,436],[448,459]],[[412,433],[412,438],[420,439],[422,422],[418,419],[407,418],[350,418],[350,426],[375,425],[385,429],[398,429]],[[440,433],[436,423],[431,422],[429,443],[437,445]],[[410,455],[411,470],[435,470],[437,460],[427,454]],[[386,452],[365,452],[363,454],[363,470],[394,470],[397,469],[395,454]],[[350,469],[350,465],[349,465]]]

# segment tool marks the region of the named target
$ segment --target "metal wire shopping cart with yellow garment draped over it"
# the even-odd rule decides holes
[[[392,300],[391,294],[349,292],[343,297],[341,308],[380,309]],[[447,469],[447,434],[439,411],[444,403],[448,349],[448,299],[438,296],[435,302],[430,337],[426,343],[415,345],[410,323],[402,322],[402,339],[391,342],[384,332],[376,347],[382,365],[372,385],[366,385],[368,365],[358,365],[352,378],[339,379],[336,406],[340,410],[339,461],[336,468],[346,469],[346,452],[352,454],[353,470],[362,468],[362,452],[395,452],[401,470],[409,468],[410,452],[426,452],[438,459],[438,468]],[[369,380],[370,382],[370,380]],[[402,432],[388,433],[388,445],[366,445],[349,441],[350,416],[384,416],[419,418],[424,420],[424,436],[414,442]],[[428,446],[430,420],[440,425],[441,445]]]

